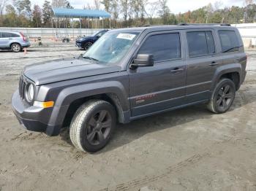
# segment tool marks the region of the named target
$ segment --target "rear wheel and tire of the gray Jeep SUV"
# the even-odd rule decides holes
[[[207,105],[208,110],[216,114],[227,112],[232,106],[235,96],[236,87],[234,82],[230,79],[221,79],[211,95],[211,101]]]

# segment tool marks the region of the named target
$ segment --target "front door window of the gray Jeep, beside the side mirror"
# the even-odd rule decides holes
[[[149,36],[140,47],[138,54],[154,55],[154,61],[156,62],[181,58],[179,33]]]

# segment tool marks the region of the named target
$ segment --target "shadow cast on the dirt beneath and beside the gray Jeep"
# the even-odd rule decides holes
[[[253,96],[253,92],[255,92],[255,90],[252,90],[252,94],[239,90],[229,112],[233,112],[242,106],[255,102],[256,96]],[[177,109],[175,111],[157,114],[151,117],[145,117],[140,120],[132,121],[129,124],[118,124],[110,143],[104,149],[96,152],[94,155],[98,155],[102,152],[109,152],[118,147],[122,147],[132,141],[135,141],[136,139],[140,139],[140,137],[145,136],[148,133],[164,130],[166,128],[175,128],[178,125],[183,125],[194,120],[211,119],[211,117],[214,115],[215,114],[206,109],[205,104],[200,104],[189,106],[184,109]],[[67,141],[69,144],[72,144],[69,139],[68,128],[61,131],[61,139]]]

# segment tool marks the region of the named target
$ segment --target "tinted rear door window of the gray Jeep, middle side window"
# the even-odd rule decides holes
[[[202,56],[215,53],[214,37],[211,31],[187,32],[189,56]]]

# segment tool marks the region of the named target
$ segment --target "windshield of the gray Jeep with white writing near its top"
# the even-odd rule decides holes
[[[138,32],[106,33],[86,51],[83,58],[103,64],[118,63],[124,58],[138,34]]]

